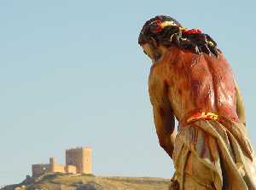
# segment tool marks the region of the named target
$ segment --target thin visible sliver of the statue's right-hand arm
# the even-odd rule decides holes
[[[242,101],[241,91],[238,87],[238,83],[236,83],[236,79],[234,78],[234,83],[236,87],[236,113],[240,120],[240,122],[244,125],[246,125],[246,112],[244,103]]]

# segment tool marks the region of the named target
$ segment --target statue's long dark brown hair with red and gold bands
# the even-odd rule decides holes
[[[212,37],[199,29],[183,28],[177,20],[166,15],[158,15],[148,20],[140,32],[138,43],[140,45],[148,43],[153,47],[155,43],[166,47],[175,45],[198,55],[206,53],[218,56],[220,52]]]

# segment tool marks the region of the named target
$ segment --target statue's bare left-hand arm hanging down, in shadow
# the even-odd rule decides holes
[[[167,98],[166,83],[161,82],[154,74],[151,74],[149,81],[149,95],[154,112],[154,125],[158,135],[160,147],[172,158],[175,141],[175,120],[172,107]]]

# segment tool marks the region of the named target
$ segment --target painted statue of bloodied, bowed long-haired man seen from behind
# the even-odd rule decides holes
[[[241,92],[217,43],[165,15],[144,24],[138,43],[153,62],[148,91],[176,170],[170,189],[256,190]]]

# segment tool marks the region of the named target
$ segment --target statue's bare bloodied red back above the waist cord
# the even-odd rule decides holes
[[[178,121],[195,110],[238,121],[233,74],[224,55],[195,55],[172,47],[152,66],[149,90],[155,77],[165,86]]]

